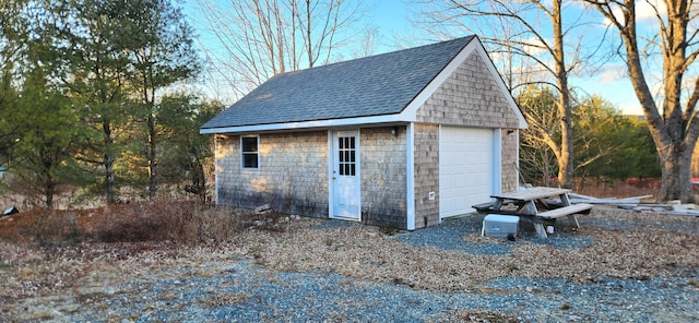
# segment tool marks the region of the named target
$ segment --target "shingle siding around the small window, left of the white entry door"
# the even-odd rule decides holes
[[[260,168],[242,169],[240,136],[216,142],[216,203],[328,217],[325,131],[260,134]]]

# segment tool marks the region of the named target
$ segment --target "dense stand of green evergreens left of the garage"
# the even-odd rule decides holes
[[[178,89],[201,70],[180,8],[4,0],[0,28],[0,166],[15,190],[46,207],[69,187],[107,203],[163,184],[206,199],[198,130],[222,107]]]

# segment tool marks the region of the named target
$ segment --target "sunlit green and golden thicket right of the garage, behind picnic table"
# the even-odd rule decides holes
[[[576,178],[660,178],[657,152],[648,125],[638,116],[623,116],[604,98],[572,95]],[[523,180],[550,182],[558,174],[559,120],[557,93],[528,86],[517,95],[530,128],[522,131],[520,167]]]

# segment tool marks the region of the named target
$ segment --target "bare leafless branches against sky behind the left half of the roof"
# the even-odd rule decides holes
[[[242,95],[275,74],[327,64],[365,13],[359,0],[198,0],[221,48],[202,43]]]

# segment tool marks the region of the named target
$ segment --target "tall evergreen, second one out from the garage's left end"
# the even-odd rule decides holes
[[[121,137],[133,119],[126,88],[130,32],[119,0],[63,0],[54,12],[64,16],[57,37],[69,71],[63,80],[76,99],[80,119],[92,129],[79,158],[102,168],[107,203],[115,203],[115,163]]]

